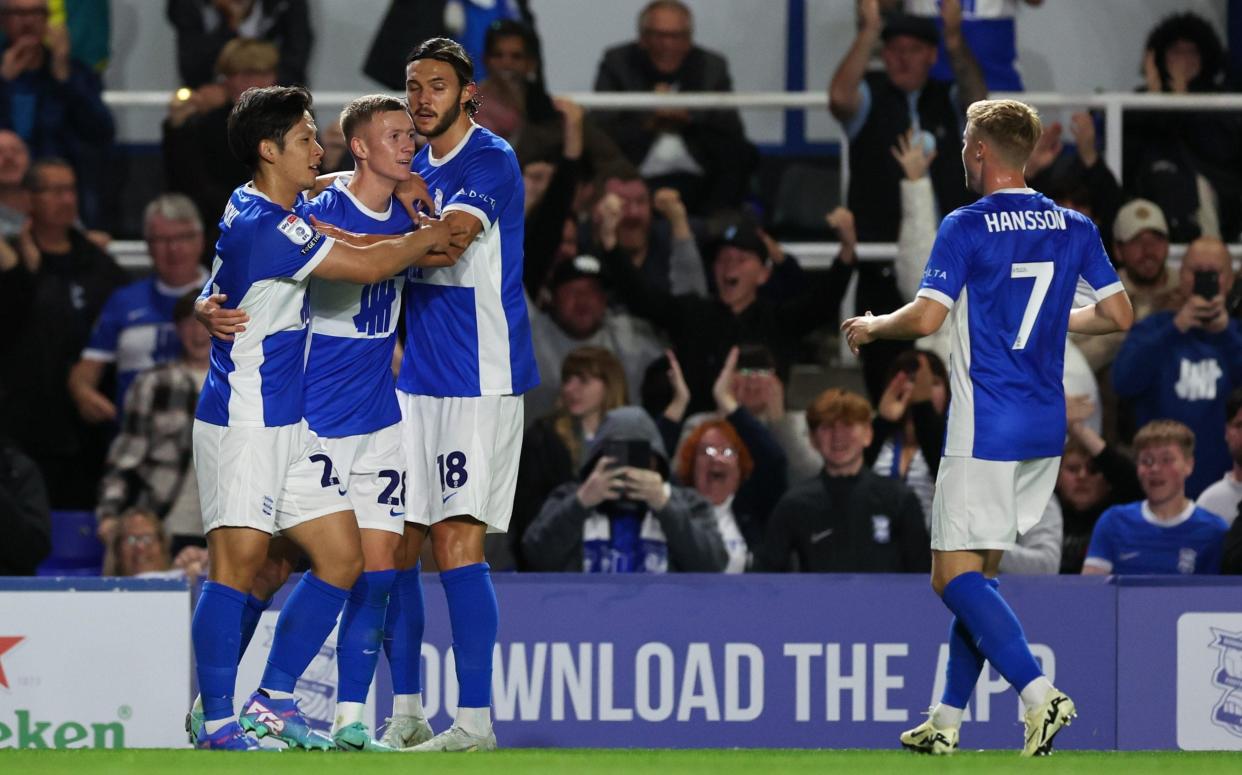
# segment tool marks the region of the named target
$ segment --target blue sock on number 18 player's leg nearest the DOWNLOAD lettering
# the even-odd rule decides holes
[[[492,704],[492,650],[501,623],[491,566],[477,563],[440,574],[448,600],[461,708]]]

